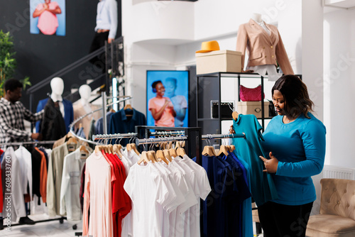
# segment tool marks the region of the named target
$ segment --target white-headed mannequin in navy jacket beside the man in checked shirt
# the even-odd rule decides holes
[[[48,104],[48,100],[50,99],[50,103],[53,102],[53,106],[58,108],[61,114],[61,117],[64,119],[65,126],[65,134],[69,132],[70,123],[72,123],[74,119],[74,113],[72,109],[72,102],[63,99],[62,93],[64,91],[64,82],[60,77],[54,77],[50,81],[50,88],[52,89],[52,93],[49,98],[42,99],[38,102],[37,111],[41,111]],[[38,133],[41,131],[41,122],[38,121],[35,123],[35,129]]]

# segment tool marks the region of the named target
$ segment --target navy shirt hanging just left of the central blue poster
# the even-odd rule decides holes
[[[132,116],[126,116],[126,112],[129,112],[131,109],[121,109],[120,111],[112,114],[110,119],[109,134],[114,133],[134,133],[135,126],[146,126],[146,116],[141,112],[133,109]],[[113,143],[115,140],[112,141]],[[129,143],[128,138],[121,140],[121,145],[126,146]]]

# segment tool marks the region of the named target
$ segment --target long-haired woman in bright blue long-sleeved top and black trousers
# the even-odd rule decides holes
[[[275,116],[263,133],[264,172],[273,174],[278,199],[258,206],[265,237],[305,236],[316,192],[311,176],[322,171],[326,128],[313,114],[307,87],[285,75],[272,89]]]

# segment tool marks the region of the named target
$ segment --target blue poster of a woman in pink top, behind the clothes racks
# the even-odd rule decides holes
[[[147,71],[147,126],[189,126],[189,71]]]

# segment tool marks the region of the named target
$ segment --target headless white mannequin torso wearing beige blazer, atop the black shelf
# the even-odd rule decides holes
[[[260,13],[252,13],[249,22],[241,24],[236,35],[236,51],[241,52],[243,68],[246,50],[249,60],[243,72],[258,72],[264,77],[268,74],[268,79],[275,81],[282,76],[276,70],[280,65],[285,75],[294,74],[278,28],[265,23]]]

